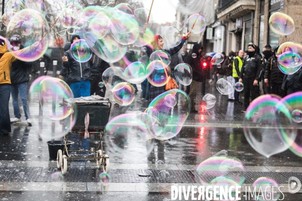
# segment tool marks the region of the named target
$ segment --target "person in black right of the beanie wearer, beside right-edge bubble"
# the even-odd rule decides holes
[[[278,48],[275,48],[273,56],[265,62],[264,83],[270,85],[271,93],[284,97],[286,93],[281,89],[284,73],[279,69],[276,57]]]

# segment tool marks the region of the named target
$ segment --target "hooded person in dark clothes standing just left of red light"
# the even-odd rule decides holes
[[[193,80],[190,84],[189,97],[191,99],[191,113],[198,113],[195,109],[195,96],[197,94],[198,82],[202,82],[202,68],[201,68],[201,52],[203,47],[201,44],[195,44],[192,48],[192,52],[185,58],[185,63],[192,67]],[[196,54],[197,57],[193,58],[192,54]]]

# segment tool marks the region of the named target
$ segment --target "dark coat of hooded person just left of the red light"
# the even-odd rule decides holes
[[[184,62],[192,67],[193,80],[202,82],[201,55],[198,53],[199,49],[201,49],[201,45],[195,44],[193,46],[192,52],[188,54]],[[197,55],[196,58],[192,57],[192,54],[194,53]]]

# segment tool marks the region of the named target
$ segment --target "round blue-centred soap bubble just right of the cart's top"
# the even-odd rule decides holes
[[[127,82],[116,84],[112,89],[112,93],[115,102],[121,106],[129,106],[135,97],[134,87]]]

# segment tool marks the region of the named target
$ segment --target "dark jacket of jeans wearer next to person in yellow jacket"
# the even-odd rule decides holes
[[[22,45],[20,49],[23,49]],[[24,82],[28,82],[29,74],[31,70],[32,63],[25,62],[21,60],[17,60],[13,62],[11,67],[11,82],[13,85],[22,84]]]

